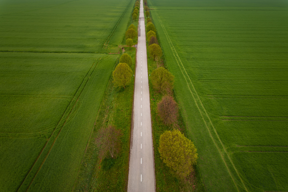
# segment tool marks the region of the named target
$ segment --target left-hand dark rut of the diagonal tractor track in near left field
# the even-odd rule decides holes
[[[98,59],[98,58],[99,58],[99,57],[97,57],[97,58],[96,58],[96,60],[94,61],[93,65],[95,64],[95,62],[97,61],[97,59]],[[101,57],[100,57],[99,61],[100,61],[100,60],[101,60]],[[98,62],[99,62],[99,61],[98,61]],[[97,64],[98,64],[98,63],[97,63]],[[89,71],[91,71],[91,69],[92,69],[93,65],[91,66],[91,68],[89,69]],[[88,74],[89,74],[89,71],[87,72],[86,76],[88,76]],[[82,83],[81,83],[81,84],[80,84],[80,86],[78,87],[77,91],[75,92],[75,95],[74,95],[74,97],[71,99],[71,101],[70,101],[69,105],[67,106],[67,108],[66,108],[65,112],[63,113],[63,115],[61,116],[60,120],[58,121],[58,123],[57,123],[57,125],[56,125],[56,127],[55,127],[54,131],[51,133],[51,135],[50,135],[49,139],[47,140],[46,144],[45,144],[45,145],[44,145],[44,147],[42,148],[41,152],[39,153],[38,157],[37,157],[37,158],[36,158],[36,160],[34,161],[33,165],[31,166],[31,168],[30,168],[29,172],[26,174],[25,178],[23,179],[23,181],[22,181],[21,185],[18,187],[17,191],[19,191],[19,189],[20,189],[20,188],[21,188],[21,186],[23,185],[24,181],[26,180],[27,176],[30,174],[30,172],[31,172],[31,170],[33,169],[34,165],[36,164],[36,162],[38,161],[39,157],[41,156],[41,154],[42,154],[43,150],[46,148],[46,145],[48,144],[48,142],[49,142],[50,138],[52,137],[52,135],[54,134],[55,130],[57,129],[57,127],[58,127],[59,123],[60,123],[60,122],[61,122],[61,120],[63,119],[63,117],[64,117],[65,113],[67,112],[67,110],[68,110],[68,108],[69,108],[69,106],[70,106],[70,105],[71,105],[71,103],[73,102],[73,100],[74,100],[74,98],[75,98],[75,96],[76,96],[77,92],[79,91],[79,89],[80,89],[81,85],[83,84],[84,80],[85,80],[85,78],[83,79]],[[88,80],[89,80],[89,79],[88,79]],[[88,80],[87,80],[87,82],[88,82]],[[86,83],[87,83],[87,82],[86,82]],[[85,86],[84,86],[84,88],[85,88]],[[84,88],[83,88],[83,90],[84,90]],[[83,90],[82,90],[82,91],[83,91]],[[82,93],[82,91],[81,91],[81,93]],[[80,95],[81,95],[81,93],[80,93]],[[78,99],[79,99],[79,98],[78,98]],[[77,99],[77,100],[78,100],[78,99]],[[76,103],[77,103],[77,101],[75,102],[75,104],[76,104]],[[72,109],[73,109],[73,108],[72,108]],[[71,110],[71,111],[72,111],[72,110]],[[66,121],[65,121],[65,122],[66,122]],[[62,129],[62,128],[61,128],[61,129]],[[49,153],[49,152],[48,152],[48,153]],[[37,171],[37,172],[38,172],[38,171]],[[33,178],[33,180],[34,180],[34,178]],[[31,183],[30,183],[30,185],[31,185]],[[30,185],[29,185],[29,187],[30,187]],[[28,188],[29,188],[29,187],[28,187]],[[28,188],[27,188],[27,190],[28,190]],[[26,190],[26,191],[27,191],[27,190]]]

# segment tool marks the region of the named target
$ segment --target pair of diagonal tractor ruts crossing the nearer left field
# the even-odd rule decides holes
[[[75,92],[75,95],[74,95],[73,99],[71,100],[71,102],[70,102],[69,105],[67,106],[65,112],[63,113],[63,115],[61,116],[60,120],[58,121],[58,123],[57,123],[57,125],[56,125],[54,131],[53,131],[52,134],[50,135],[49,139],[47,140],[46,144],[45,144],[44,147],[42,148],[41,152],[39,153],[38,157],[36,158],[35,162],[33,163],[32,167],[30,168],[29,172],[28,172],[27,175],[25,176],[25,178],[24,178],[24,180],[22,181],[21,185],[18,187],[17,191],[19,191],[19,189],[20,189],[21,186],[23,185],[24,181],[26,180],[27,176],[30,174],[31,170],[33,169],[34,165],[37,163],[39,157],[42,155],[43,150],[46,148],[46,146],[47,146],[47,144],[48,144],[50,138],[52,137],[52,135],[53,135],[54,132],[56,131],[56,129],[57,129],[58,125],[60,124],[60,122],[62,121],[63,117],[65,116],[65,114],[67,114],[67,111],[68,111],[68,112],[70,111],[69,114],[68,114],[68,116],[67,116],[67,118],[66,118],[66,120],[65,120],[65,122],[64,122],[64,124],[62,125],[62,127],[65,125],[65,123],[66,123],[67,119],[69,118],[69,116],[70,116],[70,114],[71,114],[73,108],[75,107],[77,101],[79,100],[79,97],[80,97],[80,95],[82,94],[82,92],[83,92],[83,90],[84,90],[84,88],[85,88],[85,86],[86,86],[86,84],[87,84],[87,82],[88,82],[90,76],[93,74],[94,69],[96,68],[96,66],[98,65],[98,63],[101,61],[101,59],[102,59],[102,57],[101,57],[99,60],[98,60],[98,58],[96,58],[96,60],[94,61],[93,65],[91,66],[91,68],[90,68],[89,71],[87,72],[85,78],[83,78],[83,81],[82,81],[82,83],[80,84],[80,86],[78,87],[77,91]],[[98,62],[96,63],[97,60],[98,60]],[[95,65],[95,63],[96,63],[96,65]],[[95,65],[95,67],[94,67],[94,65]],[[94,68],[93,68],[93,67],[94,67]],[[92,71],[92,72],[91,72],[91,71]],[[91,72],[91,73],[90,73],[90,72]],[[89,73],[90,73],[90,76],[88,77],[88,74],[89,74]],[[69,107],[71,106],[71,103],[74,101],[74,99],[75,99],[75,97],[76,97],[76,95],[77,95],[77,93],[78,93],[80,87],[83,85],[84,80],[86,79],[86,77],[88,77],[88,79],[87,79],[87,81],[85,82],[85,85],[84,85],[83,89],[80,91],[77,100],[75,101],[73,107],[72,107],[72,108],[69,108]],[[49,151],[48,151],[46,157],[44,158],[43,162],[41,163],[41,165],[40,165],[39,169],[37,170],[35,176],[33,177],[32,181],[30,182],[29,187],[30,187],[30,185],[32,184],[32,182],[33,182],[34,178],[36,177],[37,173],[38,173],[39,170],[41,169],[41,167],[42,167],[43,163],[45,162],[46,158],[48,157],[48,155],[49,155],[49,153],[50,153],[52,147],[54,146],[55,141],[56,141],[57,138],[58,138],[58,135],[60,134],[60,132],[61,132],[61,130],[62,130],[62,127],[60,128],[60,130],[59,130],[59,132],[58,132],[56,138],[54,139],[54,142],[52,143],[52,145],[51,145],[51,147],[50,147],[50,149],[49,149]],[[26,189],[26,191],[28,191],[29,187]]]

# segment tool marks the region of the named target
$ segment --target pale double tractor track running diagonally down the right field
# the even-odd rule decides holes
[[[193,99],[194,99],[194,101],[195,101],[195,103],[196,103],[196,105],[197,105],[197,108],[198,108],[198,110],[199,110],[199,112],[200,112],[200,114],[201,114],[201,116],[202,116],[202,119],[203,119],[205,125],[206,125],[206,128],[208,129],[209,134],[210,134],[210,136],[211,136],[213,142],[215,143],[215,146],[217,147],[219,153],[221,154],[221,157],[222,157],[223,162],[226,164],[226,161],[225,161],[225,159],[224,159],[224,157],[223,157],[223,154],[221,153],[221,151],[220,151],[218,145],[216,144],[216,142],[215,142],[215,140],[214,140],[214,138],[213,138],[213,136],[212,136],[212,134],[211,134],[211,132],[210,132],[210,130],[209,130],[209,127],[208,127],[208,125],[207,125],[207,123],[206,123],[206,121],[205,121],[205,119],[204,119],[204,117],[203,117],[203,114],[202,114],[202,112],[201,112],[201,110],[200,110],[200,108],[199,108],[199,106],[198,106],[198,103],[197,103],[197,101],[196,101],[196,99],[195,99],[195,97],[194,97],[194,95],[193,95],[193,93],[192,93],[192,91],[191,91],[191,89],[190,89],[189,83],[187,82],[187,79],[186,79],[186,77],[185,77],[185,75],[184,75],[184,73],[183,73],[183,71],[182,71],[182,69],[181,69],[181,67],[180,67],[180,65],[179,65],[179,62],[178,62],[178,60],[177,60],[177,57],[178,57],[178,59],[179,59],[181,65],[182,65],[183,70],[185,71],[185,73],[186,73],[188,79],[190,80],[190,83],[191,83],[191,85],[192,85],[192,87],[193,87],[193,89],[194,89],[194,91],[195,91],[195,93],[196,93],[196,95],[197,95],[197,97],[198,97],[198,100],[200,101],[200,104],[201,104],[202,108],[204,109],[204,112],[205,112],[206,116],[208,117],[209,122],[210,122],[210,124],[212,125],[213,130],[215,131],[215,133],[216,133],[216,135],[217,135],[217,138],[218,138],[218,140],[220,141],[220,143],[221,143],[221,145],[222,145],[222,147],[223,147],[223,150],[225,151],[225,153],[226,153],[228,159],[230,160],[230,163],[232,164],[234,170],[236,171],[238,177],[240,178],[240,180],[241,180],[241,182],[242,182],[242,185],[244,186],[245,190],[248,191],[248,189],[246,188],[246,186],[245,186],[245,184],[244,184],[242,178],[240,177],[240,174],[238,173],[238,171],[237,171],[237,169],[236,169],[234,163],[232,162],[232,159],[231,159],[230,156],[228,155],[228,153],[227,153],[227,151],[226,151],[226,149],[225,149],[225,147],[224,147],[222,141],[220,140],[219,135],[217,134],[217,132],[216,132],[216,130],[215,130],[215,127],[214,127],[214,125],[212,124],[212,121],[211,121],[209,115],[207,114],[207,112],[206,112],[206,110],[205,110],[205,108],[204,108],[204,106],[203,106],[203,104],[202,104],[202,101],[200,100],[200,97],[199,97],[198,93],[196,92],[196,89],[195,89],[195,87],[194,87],[194,85],[193,85],[191,79],[189,78],[189,76],[188,76],[188,74],[187,74],[187,71],[185,70],[185,67],[184,67],[184,65],[183,65],[183,63],[182,63],[182,61],[181,61],[181,59],[180,59],[180,57],[179,57],[179,55],[178,55],[178,53],[177,53],[177,51],[176,51],[174,45],[173,45],[173,43],[172,43],[172,41],[171,41],[171,39],[170,39],[170,37],[169,37],[169,35],[168,35],[168,33],[167,33],[167,31],[166,31],[164,25],[163,25],[163,23],[162,23],[162,21],[160,20],[160,18],[159,18],[159,16],[158,16],[157,12],[155,12],[155,13],[156,13],[156,16],[158,17],[158,20],[159,20],[159,22],[160,22],[160,25],[161,25],[161,27],[162,27],[164,33],[165,33],[165,36],[166,36],[166,38],[167,38],[167,40],[168,40],[168,43],[169,43],[169,45],[170,45],[170,48],[171,48],[171,50],[172,50],[172,52],[173,52],[173,55],[174,55],[176,61],[177,61],[177,64],[178,64],[178,66],[179,66],[179,68],[180,68],[180,70],[181,70],[181,73],[183,74],[183,77],[184,77],[184,79],[185,79],[185,81],[186,81],[186,83],[187,83],[187,86],[188,86],[188,88],[189,88],[189,90],[190,90],[190,93],[192,94]],[[168,38],[169,38],[169,39],[168,39]],[[173,46],[174,50],[173,50],[173,48],[172,48],[171,45]],[[175,56],[174,51],[175,51],[175,53],[177,54],[177,57]],[[227,170],[228,170],[228,172],[229,172],[229,174],[230,174],[230,176],[231,176],[231,178],[232,178],[232,180],[233,180],[233,182],[234,182],[234,184],[235,184],[237,190],[239,191],[238,186],[237,186],[237,184],[236,184],[236,182],[235,182],[235,180],[234,180],[234,178],[233,178],[233,176],[232,176],[232,174],[231,174],[231,172],[230,172],[230,170],[229,170],[227,164],[226,164],[226,167],[227,167]]]

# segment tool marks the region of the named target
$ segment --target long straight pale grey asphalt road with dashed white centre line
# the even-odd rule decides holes
[[[147,71],[143,0],[140,1],[140,36],[134,89],[134,129],[130,148],[128,191],[155,191],[150,97]]]

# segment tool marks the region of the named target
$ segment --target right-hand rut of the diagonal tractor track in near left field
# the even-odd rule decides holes
[[[92,72],[91,72],[90,76],[88,77],[88,80],[86,81],[86,83],[85,83],[85,85],[84,85],[84,87],[83,87],[82,91],[80,92],[80,94],[79,94],[79,96],[78,96],[78,98],[77,98],[76,102],[74,103],[74,105],[73,105],[73,107],[72,107],[72,109],[71,109],[70,113],[68,114],[67,118],[65,119],[65,122],[63,123],[62,127],[60,128],[60,130],[59,130],[59,132],[58,132],[58,134],[57,134],[57,136],[56,136],[56,138],[54,139],[54,142],[52,143],[52,145],[51,145],[51,147],[50,147],[50,149],[49,149],[49,151],[48,151],[48,153],[47,153],[46,157],[45,157],[45,158],[44,158],[44,160],[42,161],[42,163],[41,163],[40,167],[38,168],[38,170],[37,170],[37,172],[36,172],[35,176],[33,177],[32,181],[30,182],[30,184],[29,184],[29,186],[28,186],[28,188],[27,188],[27,190],[26,190],[26,191],[28,191],[28,189],[30,188],[31,184],[33,183],[33,181],[34,181],[35,177],[37,176],[38,172],[39,172],[39,171],[40,171],[40,169],[42,168],[42,165],[45,163],[45,161],[46,161],[46,159],[47,159],[48,155],[50,154],[50,151],[52,150],[52,148],[53,148],[53,146],[54,146],[54,143],[56,142],[56,140],[57,140],[57,138],[58,138],[58,136],[59,136],[60,132],[62,131],[62,128],[64,127],[65,123],[67,122],[68,118],[70,117],[70,114],[72,113],[72,111],[73,111],[74,107],[76,106],[76,103],[77,103],[77,101],[79,100],[80,96],[82,95],[82,93],[83,93],[83,91],[84,91],[84,89],[85,89],[85,87],[86,87],[86,85],[87,85],[87,83],[88,83],[88,81],[89,81],[89,78],[90,78],[90,77],[91,77],[91,75],[93,74],[93,72],[94,72],[94,70],[96,69],[96,67],[97,67],[98,63],[101,61],[101,58],[102,58],[102,57],[100,57],[100,59],[98,60],[98,62],[97,62],[97,63],[96,63],[96,61],[97,61],[97,59],[98,59],[98,58],[97,58],[97,59],[95,60],[95,62],[93,63],[93,65],[92,65],[91,69],[93,68],[93,66],[94,66],[94,65],[95,65],[95,63],[96,63],[96,65],[95,65],[94,69],[92,70]],[[89,72],[90,72],[90,71],[89,71]],[[88,72],[88,74],[89,74],[89,72]],[[88,74],[87,74],[87,75],[88,75]],[[84,78],[84,79],[85,79],[85,78]],[[80,85],[80,86],[81,86],[81,85]],[[80,88],[80,87],[79,87],[79,88]],[[79,90],[79,89],[78,89],[78,90]],[[76,93],[77,93],[77,92],[76,92]]]

